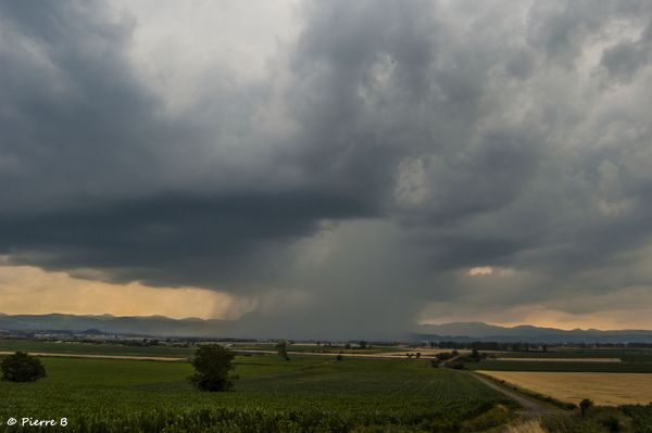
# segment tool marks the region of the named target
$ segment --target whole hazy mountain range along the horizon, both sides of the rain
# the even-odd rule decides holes
[[[117,317],[0,314],[0,332],[75,332],[139,336],[260,338],[246,320],[171,319],[164,316]],[[267,332],[271,332],[267,330]],[[406,341],[486,341],[524,343],[652,343],[650,330],[600,331],[519,326],[498,327],[482,322],[422,324],[405,334]],[[388,338],[388,340],[393,340]]]

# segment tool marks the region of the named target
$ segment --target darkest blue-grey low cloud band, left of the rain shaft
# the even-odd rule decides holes
[[[312,234],[323,218],[372,213],[359,202],[314,192],[167,193],[0,217],[0,254],[49,269],[104,269],[120,282],[244,289],[276,277],[269,260],[255,259],[258,250]]]

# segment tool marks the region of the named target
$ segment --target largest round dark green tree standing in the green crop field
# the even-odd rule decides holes
[[[238,379],[231,371],[236,355],[220,344],[206,344],[195,351],[190,364],[197,370],[189,380],[202,391],[229,391]]]

